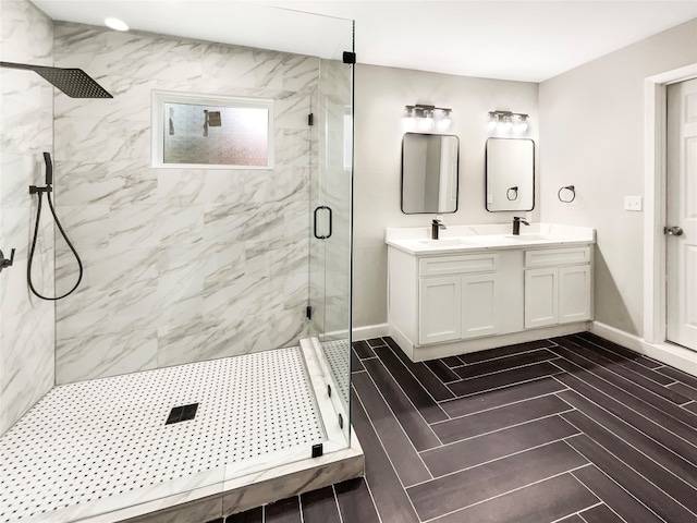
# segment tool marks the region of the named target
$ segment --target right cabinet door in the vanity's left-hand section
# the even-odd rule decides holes
[[[497,273],[462,277],[462,338],[497,335]]]

